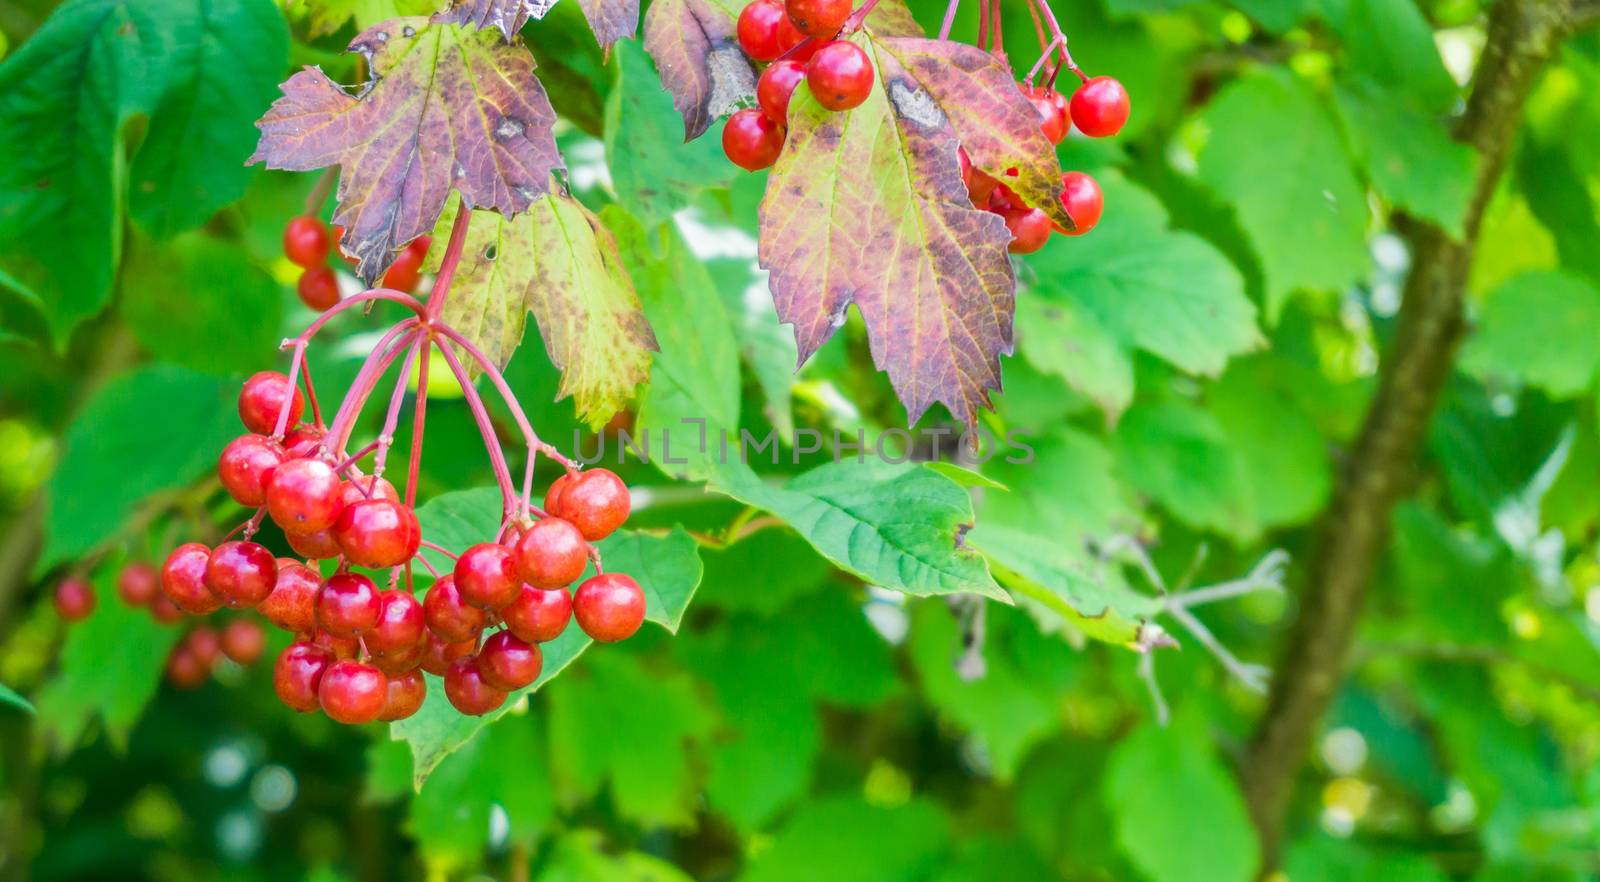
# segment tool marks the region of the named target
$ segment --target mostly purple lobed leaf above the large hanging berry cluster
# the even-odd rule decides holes
[[[491,30],[403,18],[349,46],[373,78],[350,94],[320,69],[283,83],[250,162],[339,165],[341,247],[373,283],[406,242],[434,229],[450,190],[472,208],[525,211],[562,166],[555,110],[533,54]]]

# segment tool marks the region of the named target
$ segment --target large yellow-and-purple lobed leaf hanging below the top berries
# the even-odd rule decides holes
[[[955,126],[933,94],[888,40],[853,40],[878,85],[846,114],[795,91],[762,200],[758,258],[802,360],[853,303],[910,419],[942,402],[971,424],[1011,349],[1011,235],[998,214],[973,208]]]

